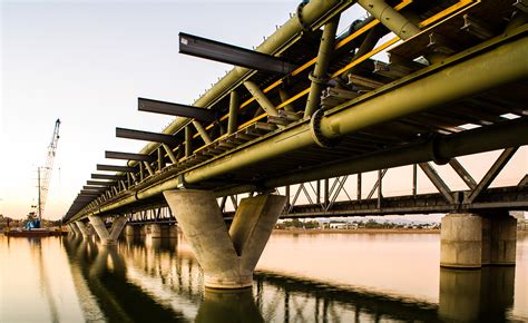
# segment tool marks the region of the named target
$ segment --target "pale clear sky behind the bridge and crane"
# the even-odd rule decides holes
[[[137,111],[137,97],[190,105],[232,68],[179,55],[178,32],[252,48],[297,3],[0,0],[0,214],[22,218],[36,204],[37,167],[46,163],[57,118],[62,124],[45,211],[49,219],[66,213],[96,164],[125,164],[105,160],[105,150],[135,153],[146,145],[116,138],[116,127],[160,131],[172,121]],[[348,12],[339,30],[362,14]],[[462,160],[482,176],[491,157]],[[497,183],[517,184],[528,170],[527,157],[526,149],[518,153]],[[454,188],[463,185],[442,172]],[[387,189],[409,187],[401,184],[409,169],[391,173]],[[420,185],[433,190],[424,178]]]

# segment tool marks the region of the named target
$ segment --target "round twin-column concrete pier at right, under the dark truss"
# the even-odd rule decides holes
[[[515,265],[517,221],[507,214],[448,214],[442,218],[440,266]]]

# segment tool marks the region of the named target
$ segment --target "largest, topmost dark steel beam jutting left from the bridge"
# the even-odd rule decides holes
[[[290,74],[296,69],[278,57],[184,32],[179,33],[179,52],[262,71]]]

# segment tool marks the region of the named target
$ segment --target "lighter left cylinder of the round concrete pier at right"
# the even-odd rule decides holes
[[[482,217],[448,214],[442,218],[440,266],[480,268],[482,265]]]

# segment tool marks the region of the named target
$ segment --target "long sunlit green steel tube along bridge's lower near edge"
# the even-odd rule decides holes
[[[528,78],[528,60],[526,60],[526,57],[528,57],[528,38],[525,37],[526,31],[527,28],[524,27],[510,35],[497,37],[471,50],[452,56],[446,61],[436,63],[359,99],[353,99],[329,110],[321,120],[322,135],[329,139],[338,138],[373,125],[471,97],[511,82],[526,80]],[[454,157],[505,148],[509,145],[526,145],[528,144],[528,135],[522,136],[527,129],[526,120],[521,120],[521,123],[525,124],[521,125],[520,130],[518,127],[510,127],[510,130],[515,130],[514,135],[510,134],[507,137],[496,136],[496,140],[477,136],[473,139],[477,143],[471,143],[475,148],[465,144],[462,146],[454,145],[449,149],[446,148],[447,151],[442,151],[443,148],[440,146],[438,151],[441,156]],[[486,128],[488,127],[483,127],[482,130],[486,130]],[[446,140],[449,141],[449,138],[446,138]],[[255,143],[226,157],[221,157],[187,172],[183,174],[183,179],[187,184],[199,183],[262,163],[268,158],[278,157],[295,149],[312,146],[315,143],[310,123],[300,123],[295,127],[278,133],[266,140]],[[475,150],[476,148],[479,148],[479,150]],[[431,159],[432,157],[429,156],[428,160]],[[408,161],[409,164],[413,163],[412,160]],[[379,168],[385,167],[390,166],[379,166]],[[177,188],[178,184],[179,179],[177,177],[169,176],[164,182],[129,194],[117,202],[102,204],[96,211],[80,213],[74,219],[113,211],[138,199],[162,194],[164,190]]]

